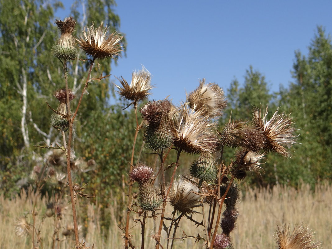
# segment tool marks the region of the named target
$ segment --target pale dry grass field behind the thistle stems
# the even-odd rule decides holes
[[[18,219],[24,217],[29,211],[33,210],[32,194],[22,193],[13,200],[4,199],[0,196],[0,249],[7,248],[32,248],[32,238],[30,235],[19,237],[15,233]],[[37,198],[38,200],[38,198]],[[237,220],[237,227],[232,232],[231,237],[235,249],[268,249],[275,248],[274,234],[277,225],[283,223],[290,224],[293,228],[295,224],[303,222],[312,231],[315,231],[315,239],[322,241],[322,248],[332,248],[332,187],[328,184],[320,184],[315,191],[310,191],[309,186],[302,185],[298,190],[275,186],[272,190],[265,189],[245,189],[238,203],[240,216]],[[82,231],[80,236],[85,233],[85,240],[88,246],[94,242],[94,248],[123,248],[122,231],[117,225],[119,215],[115,213],[116,207],[110,208],[110,229],[103,231],[100,224],[100,209],[94,204],[86,205],[88,201],[80,199],[78,201],[78,216],[88,217],[88,221],[80,224]],[[71,224],[71,209],[68,202],[67,207],[61,209],[61,220],[56,227],[59,230],[59,240],[52,244],[54,234],[53,216],[46,217],[46,200],[36,202],[36,229],[41,231],[42,248],[72,248],[74,242],[72,235],[64,236],[67,228]],[[115,205],[117,205],[115,203]],[[152,234],[152,219],[149,219],[146,235]],[[32,224],[32,215],[27,215],[27,221]],[[198,233],[203,237],[204,231],[201,227],[196,228],[188,220],[183,219],[178,229],[178,237],[182,236],[182,230],[187,235],[197,236]],[[134,244],[140,245],[140,226],[137,224],[130,229]],[[70,229],[69,229],[70,230]],[[36,238],[35,238],[36,240]],[[154,243],[147,238],[148,243],[145,248],[154,248]],[[162,240],[162,244],[165,241]],[[202,241],[195,244],[194,238],[176,240],[175,248],[202,248]]]

